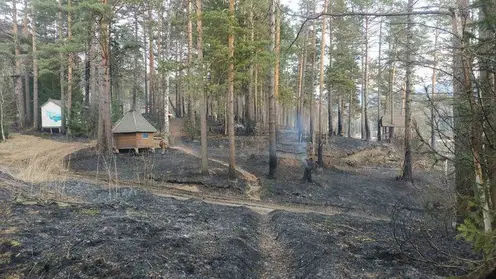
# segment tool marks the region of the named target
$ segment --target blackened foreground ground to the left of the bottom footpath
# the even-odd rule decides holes
[[[0,263],[23,278],[258,278],[258,216],[68,183],[82,204],[9,201]],[[8,230],[12,228],[11,230]],[[5,250],[5,251],[4,251]],[[8,250],[8,251],[7,251]],[[2,273],[2,272],[0,272]]]

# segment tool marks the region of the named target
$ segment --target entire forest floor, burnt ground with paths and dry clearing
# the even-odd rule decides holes
[[[280,139],[276,180],[266,178],[260,136],[238,137],[238,178],[229,180],[223,136],[209,139],[204,176],[196,141],[176,140],[165,154],[105,157],[92,142],[14,135],[0,145],[0,274],[440,278],[466,271],[452,255],[473,255],[455,240],[453,194],[439,168],[419,164],[415,182],[405,183],[396,179],[401,156],[392,146],[335,138],[326,168],[306,183],[307,148],[290,133]]]

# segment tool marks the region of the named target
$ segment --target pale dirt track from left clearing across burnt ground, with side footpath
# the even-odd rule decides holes
[[[4,171],[11,173],[15,178],[32,183],[55,180],[74,180],[95,183],[98,182],[95,181],[95,176],[68,171],[63,166],[64,157],[77,150],[92,146],[94,146],[94,142],[67,142],[65,139],[42,139],[36,136],[15,134],[11,141],[2,144],[0,155],[2,155],[2,159],[5,159],[0,163],[0,170],[3,169]],[[184,145],[177,145],[172,148],[195,157],[199,156],[196,151]],[[210,158],[209,160],[226,167],[228,166],[228,164],[222,160],[214,158]],[[107,181],[103,186],[111,188],[133,187],[149,190],[158,196],[171,197],[180,200],[194,199],[217,205],[233,207],[244,206],[261,214],[268,214],[275,210],[283,210],[293,213],[315,213],[327,216],[345,213],[350,216],[366,218],[369,220],[388,219],[386,216],[371,216],[350,208],[262,201],[260,199],[261,186],[259,178],[239,166],[236,166],[236,170],[248,181],[248,188],[246,190],[248,198],[191,191],[189,188],[185,189],[184,184],[175,183],[167,183],[168,187],[163,187],[120,180]]]

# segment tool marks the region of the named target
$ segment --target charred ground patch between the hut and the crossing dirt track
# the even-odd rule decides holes
[[[196,184],[205,191],[234,195],[243,195],[246,188],[246,181],[229,180],[227,168],[215,162],[209,162],[209,175],[202,175],[199,158],[174,149],[167,149],[165,154],[157,149],[155,153],[119,153],[110,158],[104,158],[95,149],[83,149],[66,157],[66,164],[73,171],[111,180]]]

